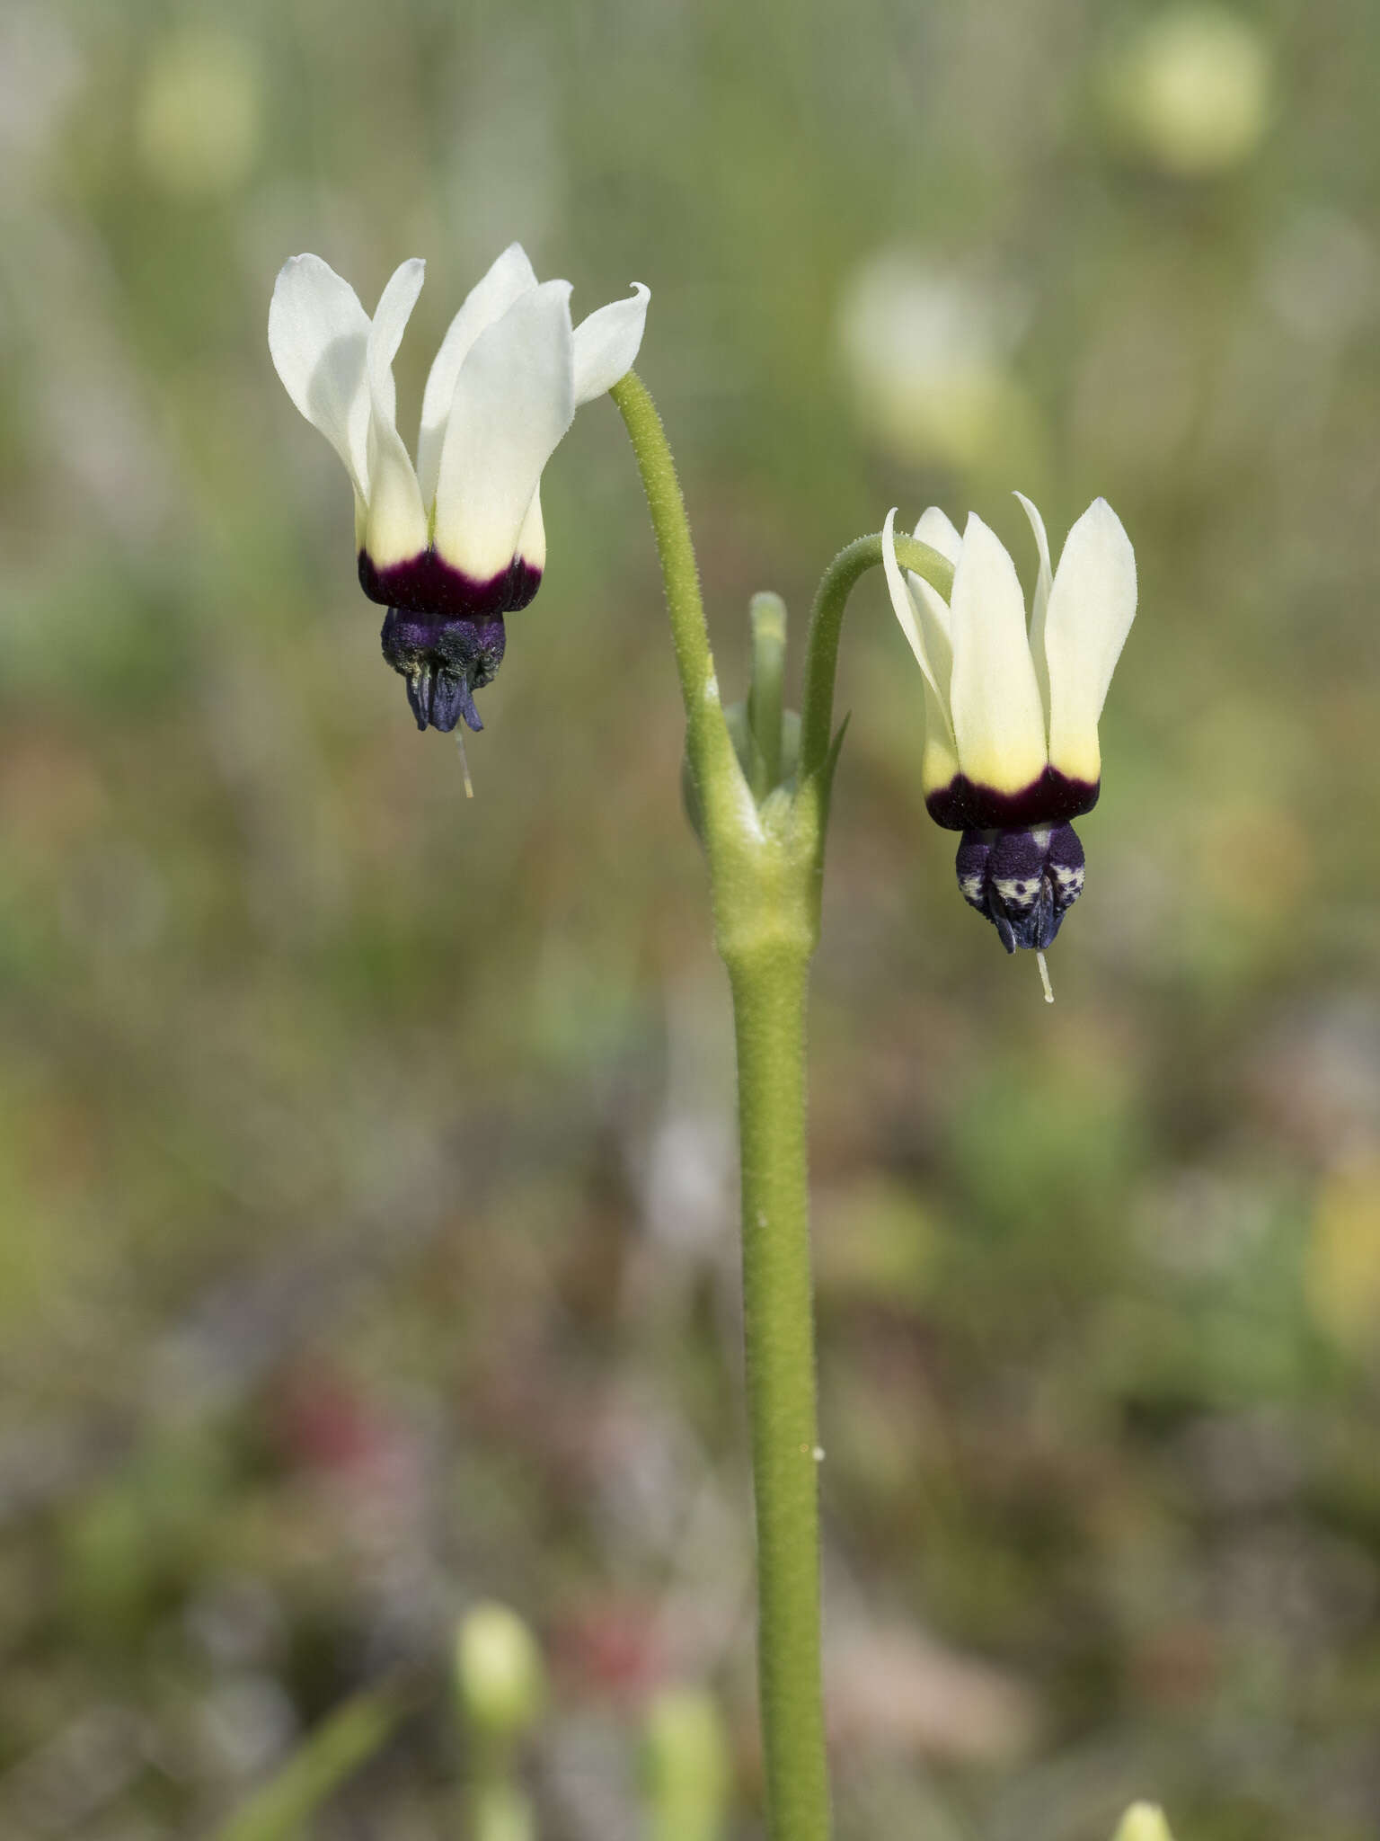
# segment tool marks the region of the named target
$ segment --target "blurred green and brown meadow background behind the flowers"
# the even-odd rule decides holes
[[[0,1835],[197,1835],[478,1596],[554,1841],[705,1685],[756,1832],[730,1038],[594,403],[467,803],[272,374],[282,260],[512,237],[640,372],[719,670],[891,504],[1141,613],[1047,1009],[868,580],[811,1011],[839,1828],[1380,1828],[1380,11],[9,0]],[[458,1832],[438,1697],[324,1837]]]

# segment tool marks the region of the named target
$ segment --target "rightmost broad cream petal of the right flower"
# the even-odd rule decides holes
[[[1100,771],[1097,718],[1135,619],[1135,552],[1106,499],[1069,532],[1045,617],[1049,758],[1075,779]]]

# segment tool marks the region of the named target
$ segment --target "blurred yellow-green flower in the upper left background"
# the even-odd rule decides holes
[[[259,151],[263,74],[250,44],[191,26],[155,46],[134,109],[140,166],[164,191],[219,197]]]

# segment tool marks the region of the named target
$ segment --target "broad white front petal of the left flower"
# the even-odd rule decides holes
[[[460,366],[436,486],[436,550],[489,580],[506,569],[541,469],[574,416],[570,284],[543,282]]]

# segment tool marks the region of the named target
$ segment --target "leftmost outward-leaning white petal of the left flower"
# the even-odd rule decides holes
[[[287,394],[344,460],[368,495],[370,317],[350,282],[320,256],[293,256],[278,271],[269,307],[269,352]]]

